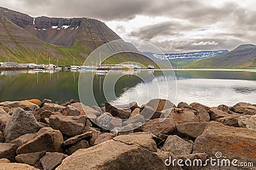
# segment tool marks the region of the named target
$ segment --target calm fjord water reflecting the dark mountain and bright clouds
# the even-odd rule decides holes
[[[181,101],[209,106],[256,103],[255,70],[175,70],[176,82],[173,72],[166,72],[163,76],[156,70],[113,71],[108,75],[95,75],[91,89],[88,77],[92,75],[93,72],[0,72],[0,100],[51,98],[59,104],[71,98],[79,101],[79,82],[83,88],[80,97],[91,100],[93,90],[95,101],[100,105],[106,98],[113,104],[131,101],[145,104],[158,97],[168,98],[175,104]],[[116,77],[120,79],[115,81]]]

